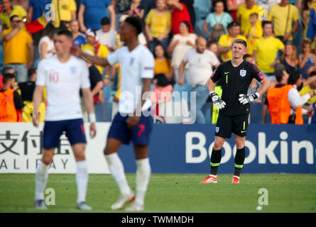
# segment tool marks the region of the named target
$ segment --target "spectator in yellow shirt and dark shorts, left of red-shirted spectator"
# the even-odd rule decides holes
[[[148,37],[148,48],[153,49],[158,43],[168,48],[168,36],[171,31],[171,13],[166,9],[165,0],[156,0],[157,9],[151,9],[145,19],[145,32]]]

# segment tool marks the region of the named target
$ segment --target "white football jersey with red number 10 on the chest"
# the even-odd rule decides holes
[[[90,87],[89,70],[84,60],[71,56],[62,63],[55,55],[38,63],[36,85],[45,86],[45,121],[82,118],[80,89]]]

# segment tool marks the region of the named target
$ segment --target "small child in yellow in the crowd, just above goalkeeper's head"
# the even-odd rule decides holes
[[[249,16],[250,26],[246,28],[248,54],[252,56],[254,42],[262,37],[261,23],[258,23],[258,13],[251,13]],[[259,21],[260,22],[260,21]]]

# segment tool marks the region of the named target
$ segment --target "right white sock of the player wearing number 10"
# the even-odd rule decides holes
[[[87,161],[79,161],[77,162],[77,172],[76,172],[76,182],[77,182],[77,203],[80,201],[86,201],[87,195],[87,185],[88,185],[88,167]]]

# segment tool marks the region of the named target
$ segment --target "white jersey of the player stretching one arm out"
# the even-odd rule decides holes
[[[141,101],[143,78],[153,78],[155,61],[153,54],[143,45],[138,45],[131,52],[123,46],[107,56],[110,65],[119,63],[121,67],[121,94],[119,96],[119,113],[132,114]],[[147,99],[142,110],[151,106]]]

